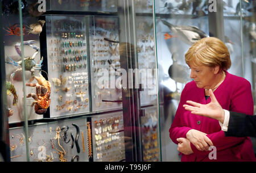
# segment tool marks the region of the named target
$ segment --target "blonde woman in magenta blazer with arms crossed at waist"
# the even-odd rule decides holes
[[[222,108],[253,115],[251,85],[246,79],[228,73],[231,61],[226,45],[214,37],[201,39],[189,48],[185,62],[191,68],[193,81],[181,93],[169,130],[171,140],[182,153],[181,161],[211,161],[211,145],[217,150],[214,161],[255,161],[249,137],[225,137],[217,120],[191,115],[183,108],[187,100],[208,104],[208,91],[212,89]]]

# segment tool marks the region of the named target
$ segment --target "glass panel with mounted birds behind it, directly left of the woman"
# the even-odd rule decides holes
[[[200,1],[201,2],[201,1]],[[191,81],[185,64],[185,53],[200,39],[197,33],[209,35],[208,7],[188,1],[159,1],[156,10],[156,43],[159,70],[160,134],[163,161],[179,161],[177,145],[169,129],[179,105],[181,91]],[[193,6],[192,6],[193,4]],[[195,6],[195,7],[194,7]],[[206,10],[205,10],[206,8]],[[189,32],[189,31],[195,31]],[[193,35],[195,34],[195,35]],[[203,36],[202,35],[202,36]],[[192,39],[194,37],[194,39]]]

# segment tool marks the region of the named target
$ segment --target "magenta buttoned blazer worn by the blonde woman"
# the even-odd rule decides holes
[[[214,95],[222,108],[253,115],[251,85],[246,79],[237,77],[226,71],[226,78],[214,91]],[[256,161],[253,144],[249,137],[225,137],[217,120],[193,115],[190,111],[186,111],[183,104],[186,104],[187,100],[201,104],[208,104],[210,102],[210,98],[205,100],[204,88],[198,88],[194,81],[187,83],[181,92],[179,107],[169,130],[171,140],[175,144],[178,144],[177,138],[186,138],[188,130],[200,130],[201,132],[207,133],[213,145],[216,146],[217,159],[210,160],[208,155],[211,151],[199,151],[191,143],[193,154],[182,154],[181,162]]]

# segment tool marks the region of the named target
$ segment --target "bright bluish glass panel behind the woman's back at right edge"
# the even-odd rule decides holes
[[[224,1],[224,29],[226,46],[232,66],[229,73],[247,79],[255,100],[255,1]],[[254,102],[254,114],[255,114]],[[256,153],[256,140],[251,138]]]

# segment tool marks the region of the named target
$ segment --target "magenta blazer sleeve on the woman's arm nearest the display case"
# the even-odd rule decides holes
[[[177,142],[177,138],[187,138],[186,134],[188,132],[188,130],[191,130],[192,128],[188,127],[188,126],[183,126],[181,124],[181,116],[183,115],[183,104],[185,102],[185,90],[186,90],[186,86],[184,87],[183,91],[181,92],[181,96],[180,96],[180,103],[179,106],[177,108],[175,117],[174,117],[174,121],[172,122],[171,128],[169,130],[170,132],[170,138],[172,140],[172,142],[174,142],[175,144],[178,144],[179,142]]]

